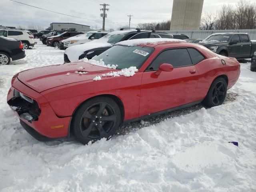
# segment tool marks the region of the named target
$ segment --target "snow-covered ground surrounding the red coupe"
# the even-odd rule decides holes
[[[63,51],[40,42],[26,55],[0,66],[1,192],[256,191],[256,72],[249,63],[222,106],[131,123],[111,140],[84,146],[38,142],[20,126],[6,104],[12,76],[63,63]]]

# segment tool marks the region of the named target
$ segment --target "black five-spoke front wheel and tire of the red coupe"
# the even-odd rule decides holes
[[[120,126],[118,104],[108,97],[96,97],[82,104],[74,115],[74,135],[83,144],[110,138]]]

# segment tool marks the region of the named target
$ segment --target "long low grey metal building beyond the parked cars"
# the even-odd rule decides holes
[[[76,31],[79,31],[79,32],[88,32],[90,30],[90,26],[76,24],[76,23],[51,23],[50,24],[50,30],[61,30],[61,29],[68,29],[68,28],[75,28]]]

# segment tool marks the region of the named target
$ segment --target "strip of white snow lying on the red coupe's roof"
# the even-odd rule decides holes
[[[133,39],[126,40],[116,43],[115,45],[124,45],[124,46],[137,46],[139,44],[154,44],[159,42],[186,42],[181,39],[170,39],[170,38],[145,38],[145,39]]]

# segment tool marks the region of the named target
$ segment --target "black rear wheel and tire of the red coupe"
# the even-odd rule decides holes
[[[210,89],[204,98],[203,104],[207,107],[215,107],[221,105],[227,94],[227,83],[226,80],[222,77],[214,80]]]

